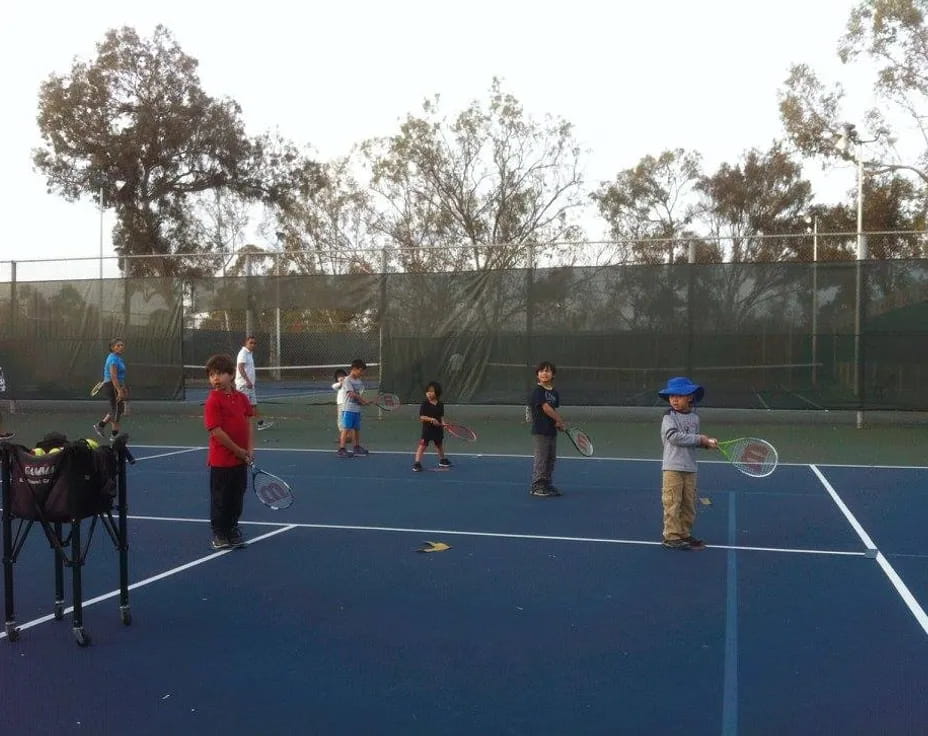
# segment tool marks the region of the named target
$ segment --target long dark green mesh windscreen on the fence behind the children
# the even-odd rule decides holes
[[[928,409],[924,260],[6,283],[0,319],[7,398],[85,397],[119,336],[133,397],[179,399],[251,333],[258,365],[361,357],[407,402],[521,404],[550,360],[574,405],[688,375],[717,407]]]

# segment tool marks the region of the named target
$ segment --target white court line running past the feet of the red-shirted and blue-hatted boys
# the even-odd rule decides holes
[[[194,519],[180,516],[128,516],[136,521],[176,521],[192,524],[207,524],[208,519]],[[310,524],[293,522],[284,524],[276,521],[239,521],[239,524],[251,526],[286,526],[288,529],[334,529],[358,532],[398,532],[402,534],[447,534],[460,537],[496,537],[500,539],[531,539],[544,542],[595,542],[599,544],[631,544],[641,546],[660,546],[661,542],[651,539],[609,539],[606,537],[566,537],[548,534],[516,534],[511,532],[474,532],[461,529],[410,529],[396,526],[360,526],[356,524]],[[740,547],[726,544],[707,545],[707,549],[737,549],[745,552],[786,552],[806,555],[833,555],[837,557],[864,557],[864,552],[845,552],[829,549],[790,549],[786,547]]]

